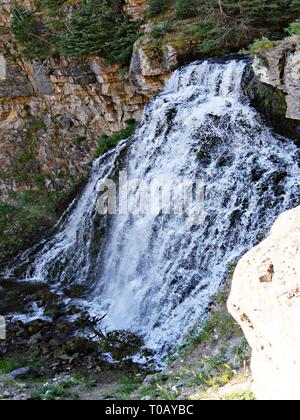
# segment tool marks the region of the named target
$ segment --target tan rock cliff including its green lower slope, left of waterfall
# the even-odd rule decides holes
[[[145,15],[146,3],[126,1],[132,20]],[[99,139],[140,121],[178,64],[175,49],[157,54],[142,28],[129,68],[98,56],[26,60],[10,28],[13,5],[0,4],[0,266],[55,223]],[[37,0],[22,5],[43,12]]]

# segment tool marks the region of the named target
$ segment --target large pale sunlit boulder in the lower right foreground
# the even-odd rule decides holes
[[[239,262],[228,307],[253,350],[257,398],[299,400],[300,207]]]

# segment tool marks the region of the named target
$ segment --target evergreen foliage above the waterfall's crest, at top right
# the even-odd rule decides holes
[[[198,41],[203,55],[225,54],[261,36],[283,36],[284,28],[299,14],[299,5],[300,0],[206,0],[196,9],[199,19],[184,35]]]

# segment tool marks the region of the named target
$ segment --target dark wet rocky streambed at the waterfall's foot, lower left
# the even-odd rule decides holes
[[[0,315],[6,319],[6,340],[0,341],[0,370],[2,363],[4,371],[11,373],[11,366],[13,377],[50,380],[68,372],[106,372],[107,377],[108,371],[129,375],[151,371],[130,357],[141,352],[139,337],[128,331],[101,331],[101,320],[90,318],[76,305],[67,307],[46,284],[2,278],[0,290]],[[73,292],[78,295],[77,290]],[[143,350],[143,354],[151,361],[150,352]]]

